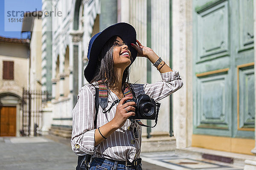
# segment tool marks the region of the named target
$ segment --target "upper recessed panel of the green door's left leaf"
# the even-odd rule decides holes
[[[227,55],[229,48],[227,2],[211,8],[198,9],[197,28],[197,62]]]

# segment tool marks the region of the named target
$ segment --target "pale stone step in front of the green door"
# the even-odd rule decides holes
[[[227,163],[227,160],[232,160],[232,163],[235,166],[244,167],[245,160],[253,160],[255,156],[241,154],[241,153],[232,153],[232,152],[225,152],[219,150],[211,150],[205,149],[201,147],[186,147],[186,148],[179,148],[175,149],[175,153],[183,153],[189,154],[197,158],[206,159],[207,157],[215,160]]]

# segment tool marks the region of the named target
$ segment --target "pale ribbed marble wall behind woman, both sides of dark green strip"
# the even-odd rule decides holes
[[[129,6],[129,11],[127,9]],[[129,0],[129,3],[120,1],[122,22],[128,22],[137,31],[137,39],[142,45],[147,45],[147,0]],[[129,16],[129,18],[127,17]],[[151,48],[169,65],[170,35],[169,35],[169,0],[151,0]],[[147,82],[147,61],[144,57],[137,57],[131,67],[130,81],[137,83]],[[160,73],[151,64],[151,82],[160,81]],[[160,100],[161,107],[158,125],[151,129],[151,134],[169,134],[169,97]],[[146,121],[144,121],[146,123]],[[151,122],[154,125],[154,122]],[[147,129],[143,128],[143,136]]]

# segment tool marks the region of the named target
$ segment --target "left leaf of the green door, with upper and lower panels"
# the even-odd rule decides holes
[[[193,2],[193,133],[232,136],[229,3]]]

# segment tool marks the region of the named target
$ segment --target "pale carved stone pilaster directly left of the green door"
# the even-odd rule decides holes
[[[172,68],[183,87],[173,94],[173,127],[177,148],[192,139],[192,0],[172,0]]]

